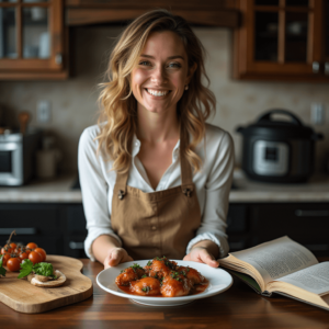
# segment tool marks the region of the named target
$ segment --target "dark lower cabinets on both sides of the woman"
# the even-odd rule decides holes
[[[36,242],[49,254],[86,258],[82,204],[0,203],[0,245],[13,229],[13,241]],[[227,216],[230,251],[282,236],[316,256],[329,256],[329,203],[231,203]]]

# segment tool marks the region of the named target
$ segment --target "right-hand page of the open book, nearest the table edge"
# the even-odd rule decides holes
[[[287,282],[317,295],[329,294],[329,262],[322,262],[275,281]]]

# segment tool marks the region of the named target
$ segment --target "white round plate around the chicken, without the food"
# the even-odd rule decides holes
[[[188,304],[195,299],[206,298],[206,297],[220,294],[226,290],[228,290],[232,284],[232,279],[230,274],[228,274],[226,271],[222,269],[211,268],[203,263],[175,260],[175,262],[179,265],[193,268],[197,270],[203,276],[205,276],[209,281],[209,285],[207,286],[207,288],[200,294],[190,295],[190,296],[147,297],[147,296],[131,295],[117,287],[117,285],[115,284],[115,279],[122,270],[132,266],[133,264],[136,263],[144,268],[147,264],[147,262],[148,260],[126,262],[126,263],[118,264],[115,268],[109,268],[106,270],[103,270],[102,272],[99,273],[97,277],[97,283],[102,290],[104,290],[110,294],[117,295],[124,298],[129,298],[133,302],[144,304],[144,305],[150,305],[150,306],[175,306],[175,305]]]

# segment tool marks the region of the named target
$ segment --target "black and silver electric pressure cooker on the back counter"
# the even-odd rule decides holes
[[[287,115],[291,121],[274,120],[274,114]],[[242,170],[247,177],[275,183],[306,182],[314,171],[315,141],[324,138],[280,109],[265,112],[237,132],[243,136]]]

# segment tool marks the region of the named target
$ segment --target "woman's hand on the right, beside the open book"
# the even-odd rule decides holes
[[[219,262],[216,261],[214,253],[218,250],[218,246],[209,240],[200,241],[194,245],[191,252],[183,260],[198,263],[205,263],[212,268],[218,268]],[[218,252],[217,252],[218,253]],[[217,256],[217,254],[216,254]]]

